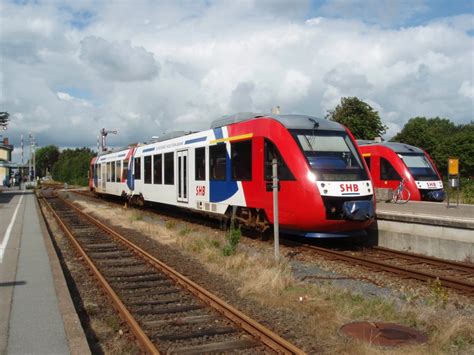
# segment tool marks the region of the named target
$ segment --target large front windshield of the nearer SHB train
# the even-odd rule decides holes
[[[362,159],[344,131],[293,130],[311,169],[320,181],[368,180]]]

